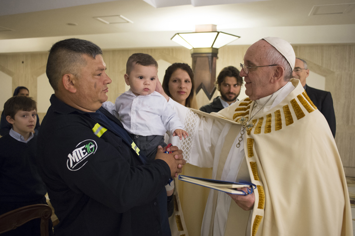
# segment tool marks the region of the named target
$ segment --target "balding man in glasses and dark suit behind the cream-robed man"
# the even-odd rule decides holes
[[[316,89],[310,87],[306,84],[306,78],[309,75],[309,69],[307,67],[307,62],[301,58],[296,57],[296,63],[292,72],[294,78],[298,78],[301,81],[303,88],[309,96],[309,99],[313,104],[319,109],[319,111],[324,115],[326,121],[328,121],[330,130],[335,137],[336,122],[335,113],[333,107],[333,99],[328,91]]]

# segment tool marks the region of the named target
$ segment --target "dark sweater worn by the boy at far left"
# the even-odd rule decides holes
[[[37,136],[27,143],[10,134],[0,138],[0,202],[31,202],[45,196],[36,155]]]

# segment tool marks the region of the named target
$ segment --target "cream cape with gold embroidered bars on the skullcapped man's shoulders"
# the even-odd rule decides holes
[[[243,135],[245,158],[237,179],[249,175],[257,185],[255,203],[252,211],[244,211],[231,201],[224,235],[352,235],[349,197],[335,141],[299,80],[291,82],[295,89],[275,107],[257,113],[249,122],[254,127]],[[228,130],[221,125],[216,134],[225,136],[222,146],[213,146],[217,142],[212,140],[207,147],[199,147],[194,141],[185,154],[193,157],[209,149],[215,158],[213,177],[221,179],[226,156],[240,136],[241,125],[236,121],[249,118],[253,103],[245,98],[211,114],[193,110],[200,119],[217,120],[216,125],[224,120]],[[192,136],[198,135],[198,130]],[[206,158],[208,162],[211,156]],[[205,218],[211,223],[205,232],[213,235],[219,196],[211,190],[210,197],[212,204],[207,204]]]

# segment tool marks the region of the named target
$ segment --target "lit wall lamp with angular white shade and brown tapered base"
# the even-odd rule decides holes
[[[196,94],[202,88],[211,99],[216,90],[216,61],[218,48],[240,36],[217,31],[215,24],[196,25],[196,32],[176,33],[171,40],[190,49]]]

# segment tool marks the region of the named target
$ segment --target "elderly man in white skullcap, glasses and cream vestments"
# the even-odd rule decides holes
[[[268,65],[267,56],[255,59],[272,45],[292,70],[291,45],[272,37],[254,44],[240,72],[250,98],[211,114],[169,100],[190,134],[170,142],[183,150],[187,162],[213,167],[214,179],[257,185],[250,210],[210,190],[201,235],[352,235],[344,171],[324,116],[298,79],[283,81],[287,66]],[[267,83],[258,72],[270,74]]]

